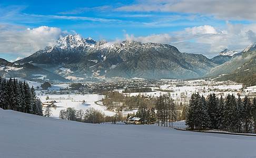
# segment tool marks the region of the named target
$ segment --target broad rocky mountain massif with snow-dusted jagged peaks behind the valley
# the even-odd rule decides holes
[[[203,55],[181,53],[171,45],[129,40],[111,44],[77,34],[62,37],[54,47],[16,63],[26,62],[66,78],[191,78],[203,76],[217,65]]]

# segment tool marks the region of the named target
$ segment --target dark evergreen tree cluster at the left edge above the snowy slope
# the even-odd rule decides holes
[[[4,110],[43,115],[41,104],[34,87],[30,88],[27,82],[0,77],[0,107]]]

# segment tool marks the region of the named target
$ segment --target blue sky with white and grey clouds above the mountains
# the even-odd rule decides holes
[[[80,34],[176,46],[209,58],[256,42],[252,0],[0,1],[0,57],[15,61]]]

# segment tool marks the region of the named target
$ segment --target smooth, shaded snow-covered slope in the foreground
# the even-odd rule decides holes
[[[0,109],[0,157],[255,157],[256,137],[86,124]]]

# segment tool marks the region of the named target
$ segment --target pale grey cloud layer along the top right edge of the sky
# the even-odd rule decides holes
[[[118,7],[116,11],[126,12],[171,12],[215,16],[219,19],[256,20],[254,0],[173,0],[137,1],[133,5]]]

